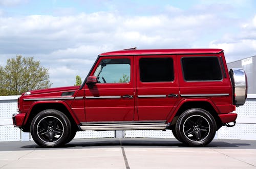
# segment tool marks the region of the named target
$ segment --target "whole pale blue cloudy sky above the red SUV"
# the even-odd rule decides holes
[[[102,52],[221,48],[256,55],[256,1],[0,0],[0,65],[17,54],[49,69],[52,87],[86,77]]]

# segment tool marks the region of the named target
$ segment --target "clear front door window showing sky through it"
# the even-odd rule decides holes
[[[99,83],[127,83],[131,77],[129,59],[103,59],[100,61],[94,76]]]

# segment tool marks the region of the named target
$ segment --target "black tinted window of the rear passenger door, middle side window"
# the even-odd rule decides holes
[[[140,81],[173,81],[174,66],[172,58],[142,58],[140,65]]]

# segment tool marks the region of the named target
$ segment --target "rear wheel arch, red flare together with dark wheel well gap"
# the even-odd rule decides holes
[[[219,110],[214,103],[208,99],[184,99],[182,100],[173,114],[168,118],[168,122],[171,122],[170,127],[176,124],[179,116],[187,109],[190,108],[202,108],[208,111],[215,119],[217,130],[223,126],[220,117],[218,116]]]

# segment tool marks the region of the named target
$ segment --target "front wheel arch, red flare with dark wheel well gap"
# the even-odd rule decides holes
[[[23,131],[25,132],[29,132],[30,131],[30,124],[33,120],[33,118],[42,110],[46,110],[46,109],[56,109],[59,110],[61,112],[63,112],[63,114],[65,114],[68,119],[70,120],[72,126],[76,126],[77,124],[79,124],[79,121],[77,119],[77,117],[75,116],[75,114],[73,113],[72,109],[69,107],[69,105],[64,102],[64,101],[36,101],[34,102],[30,108],[29,111],[26,115],[26,119],[24,121],[24,127],[23,127]]]

